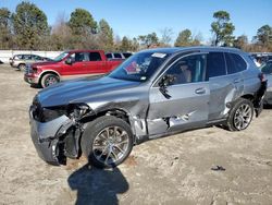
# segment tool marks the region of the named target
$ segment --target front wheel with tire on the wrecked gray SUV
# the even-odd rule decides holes
[[[100,117],[87,124],[82,137],[83,153],[91,165],[111,168],[122,164],[133,148],[131,126],[112,116]]]

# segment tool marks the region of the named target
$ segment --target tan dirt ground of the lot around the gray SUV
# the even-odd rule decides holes
[[[208,128],[135,146],[113,170],[45,164],[29,135],[37,88],[0,65],[0,204],[272,204],[272,109],[243,132]],[[212,170],[222,166],[225,170]]]

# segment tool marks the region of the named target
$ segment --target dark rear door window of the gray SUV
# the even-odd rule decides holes
[[[207,80],[209,77],[222,75],[226,75],[226,67],[223,52],[209,52],[207,59]]]

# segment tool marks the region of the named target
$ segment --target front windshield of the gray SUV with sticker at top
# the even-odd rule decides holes
[[[109,76],[126,81],[147,81],[165,61],[168,53],[139,52],[120,64]]]

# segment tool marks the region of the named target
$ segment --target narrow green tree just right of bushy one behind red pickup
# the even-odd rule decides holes
[[[102,45],[102,49],[112,50],[113,49],[113,31],[110,27],[109,23],[106,20],[100,20],[98,34],[100,39],[100,45]]]

